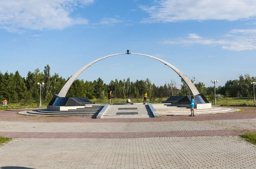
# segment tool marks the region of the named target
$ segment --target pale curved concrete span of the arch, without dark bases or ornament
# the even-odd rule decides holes
[[[90,67],[91,65],[93,65],[94,63],[96,62],[99,62],[100,60],[102,59],[106,59],[108,57],[111,57],[111,56],[116,56],[116,55],[124,55],[126,53],[122,53],[122,54],[113,54],[113,55],[108,55],[108,56],[104,56],[102,58],[99,58],[99,59],[96,59],[94,60],[93,62],[90,62],[89,64],[85,65],[83,68],[81,68],[80,70],[78,70],[68,81],[67,83],[62,87],[60,93],[58,94],[59,97],[66,97],[66,94],[67,94],[67,91],[69,90],[70,86],[73,84],[73,82],[76,80],[76,78],[85,70],[87,69],[88,67]],[[192,95],[198,95],[199,92],[197,90],[197,88],[195,87],[195,85],[189,80],[189,78],[184,74],[182,73],[179,69],[177,69],[175,66],[171,65],[170,63],[162,60],[162,59],[159,59],[157,57],[154,57],[154,56],[150,56],[150,55],[145,55],[145,54],[136,54],[136,53],[131,53],[131,54],[135,54],[135,55],[141,55],[141,56],[147,56],[149,58],[152,58],[152,59],[156,59],[162,63],[164,63],[165,65],[169,66],[170,68],[172,68],[172,70],[174,70],[183,80],[184,82],[188,85]]]

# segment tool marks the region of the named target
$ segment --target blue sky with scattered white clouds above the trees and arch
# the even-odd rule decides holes
[[[49,64],[67,79],[126,50],[163,59],[207,87],[256,76],[256,0],[0,0],[2,73],[26,77]],[[171,68],[138,55],[104,59],[79,79],[99,77],[180,84]]]

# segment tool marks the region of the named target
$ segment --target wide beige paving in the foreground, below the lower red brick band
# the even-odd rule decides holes
[[[253,169],[256,148],[238,136],[15,139],[0,166],[35,169]]]

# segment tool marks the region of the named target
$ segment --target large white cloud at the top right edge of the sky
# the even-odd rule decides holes
[[[141,23],[186,20],[241,20],[256,17],[255,0],[156,0],[140,6],[149,14]]]

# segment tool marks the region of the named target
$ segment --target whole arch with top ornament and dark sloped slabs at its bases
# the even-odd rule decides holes
[[[162,59],[159,59],[159,58],[151,56],[151,55],[139,54],[139,53],[130,53],[130,50],[127,50],[127,53],[112,54],[112,55],[104,56],[104,57],[96,59],[93,62],[90,62],[89,64],[87,64],[84,67],[82,67],[80,70],[78,70],[66,82],[66,84],[62,87],[62,89],[59,92],[59,94],[58,95],[55,94],[55,96],[53,96],[52,100],[49,103],[49,106],[82,106],[82,105],[85,105],[85,104],[92,104],[92,102],[90,100],[88,100],[87,98],[68,98],[68,97],[66,97],[67,92],[68,92],[70,86],[73,84],[73,82],[78,78],[78,76],[84,70],[86,70],[87,68],[92,66],[94,63],[99,62],[102,59],[107,59],[108,57],[117,56],[117,55],[125,55],[125,54],[127,54],[127,55],[132,54],[132,55],[146,56],[146,57],[149,57],[151,59],[156,59],[157,61],[160,61],[163,64],[169,66],[172,70],[174,70],[183,79],[183,81],[189,87],[189,90],[191,91],[192,95],[196,96],[195,102],[198,102],[198,104],[202,104],[202,103],[207,103],[208,105],[210,104],[209,101],[204,97],[204,95],[202,93],[198,92],[197,88],[190,81],[190,79],[184,73],[182,73],[179,69],[177,69],[175,66],[171,65],[169,62],[166,62],[166,61],[164,61]],[[183,96],[183,97],[186,97],[187,99],[181,98],[181,99],[183,99],[183,101],[180,101],[180,106],[182,106],[183,104],[187,104],[186,102],[189,101],[188,100],[189,97],[187,97],[187,96]],[[165,102],[176,103],[176,102],[178,102],[177,98],[180,98],[180,96],[171,96]],[[195,104],[197,104],[197,103],[195,103]],[[209,107],[209,106],[207,106],[207,107]],[[211,107],[211,105],[210,105],[210,107]]]

